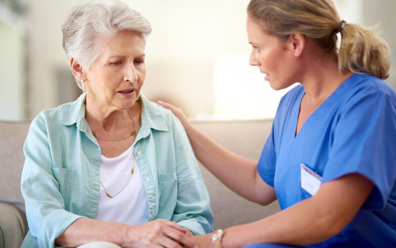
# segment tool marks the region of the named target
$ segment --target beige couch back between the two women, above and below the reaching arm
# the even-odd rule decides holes
[[[193,121],[192,124],[230,151],[258,161],[272,120]],[[210,195],[215,229],[253,222],[280,211],[278,201],[268,206],[250,202],[224,186],[203,166],[201,172]]]

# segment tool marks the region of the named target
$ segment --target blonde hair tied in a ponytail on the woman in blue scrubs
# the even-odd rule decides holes
[[[300,33],[323,49],[334,51],[338,54],[340,71],[389,77],[391,58],[386,42],[373,30],[360,25],[347,23],[341,29],[341,19],[332,0],[250,0],[247,14],[280,39]],[[342,37],[339,50],[338,31]]]

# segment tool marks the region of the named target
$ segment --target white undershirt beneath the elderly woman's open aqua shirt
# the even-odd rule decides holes
[[[133,164],[132,164],[133,162]],[[132,166],[134,173],[131,176]],[[129,177],[131,179],[128,182]],[[97,220],[140,225],[148,221],[148,201],[139,167],[134,159],[133,145],[115,158],[100,158],[100,195]],[[125,184],[128,184],[125,186]],[[123,186],[124,189],[114,196]]]

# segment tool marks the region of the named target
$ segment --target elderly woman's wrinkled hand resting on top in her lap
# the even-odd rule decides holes
[[[186,229],[175,222],[157,219],[133,226],[127,235],[130,238],[123,247],[128,248],[198,248],[187,236]]]

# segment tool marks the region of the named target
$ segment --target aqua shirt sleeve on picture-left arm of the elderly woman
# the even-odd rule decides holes
[[[47,124],[40,115],[30,126],[24,148],[25,164],[21,191],[25,199],[29,234],[41,248],[54,247],[54,240],[76,219],[82,217],[65,210],[57,174],[73,181],[75,172],[54,172]]]

